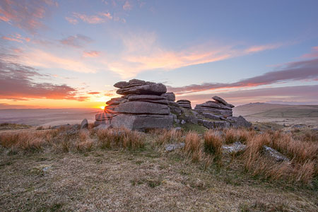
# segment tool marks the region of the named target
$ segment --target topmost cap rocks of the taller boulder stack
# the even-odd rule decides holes
[[[128,83],[119,82],[114,84],[119,88],[116,93],[119,95],[129,94],[146,94],[146,95],[161,95],[167,92],[167,88],[162,83],[152,83],[140,80],[131,80]]]

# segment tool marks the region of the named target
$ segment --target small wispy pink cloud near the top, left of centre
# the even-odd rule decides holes
[[[107,20],[112,20],[112,15],[110,13],[97,13],[96,15],[88,16],[86,14],[73,13],[73,17],[66,17],[65,19],[74,25],[78,23],[78,20],[82,20],[89,24],[98,24],[104,23]]]

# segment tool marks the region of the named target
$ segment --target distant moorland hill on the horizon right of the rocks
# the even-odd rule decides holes
[[[234,107],[233,115],[268,118],[314,118],[318,117],[318,105],[280,105],[257,102]]]

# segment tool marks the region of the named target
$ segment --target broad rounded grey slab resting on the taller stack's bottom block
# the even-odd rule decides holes
[[[167,105],[141,101],[124,102],[115,107],[114,111],[129,114],[170,114]]]

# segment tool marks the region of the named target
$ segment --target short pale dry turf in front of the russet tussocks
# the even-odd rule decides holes
[[[16,129],[26,130],[36,131]],[[84,153],[1,148],[0,170],[1,211],[318,210],[317,185],[204,168],[181,151],[165,153],[152,143],[137,151]]]

